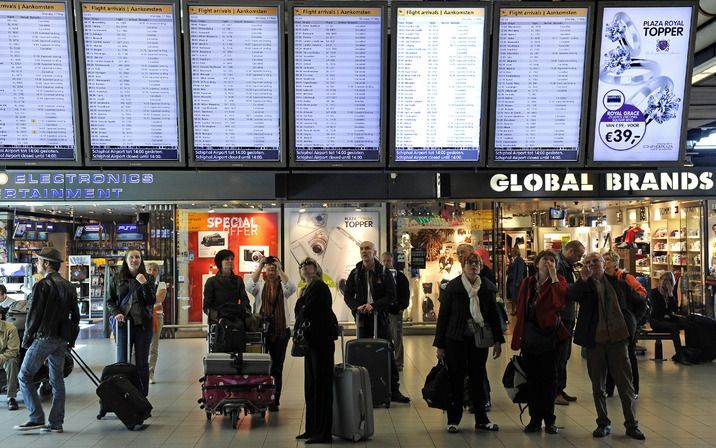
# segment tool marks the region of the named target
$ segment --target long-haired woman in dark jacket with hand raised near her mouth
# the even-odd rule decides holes
[[[117,362],[128,362],[127,330],[134,348],[137,373],[142,382],[142,393],[149,395],[149,347],[152,343],[154,320],[152,309],[156,302],[154,277],[147,273],[142,252],[127,250],[119,273],[109,286],[107,309],[114,316],[117,338]],[[131,348],[130,348],[131,349]]]

